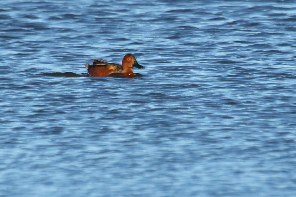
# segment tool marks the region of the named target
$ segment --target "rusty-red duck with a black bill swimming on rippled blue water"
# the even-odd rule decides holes
[[[145,69],[141,66],[135,56],[132,54],[126,54],[122,59],[122,65],[109,63],[101,59],[91,59],[93,64],[85,64],[85,67],[89,73],[89,76],[114,76],[114,77],[126,77],[137,76],[139,73],[133,73],[133,68]]]

